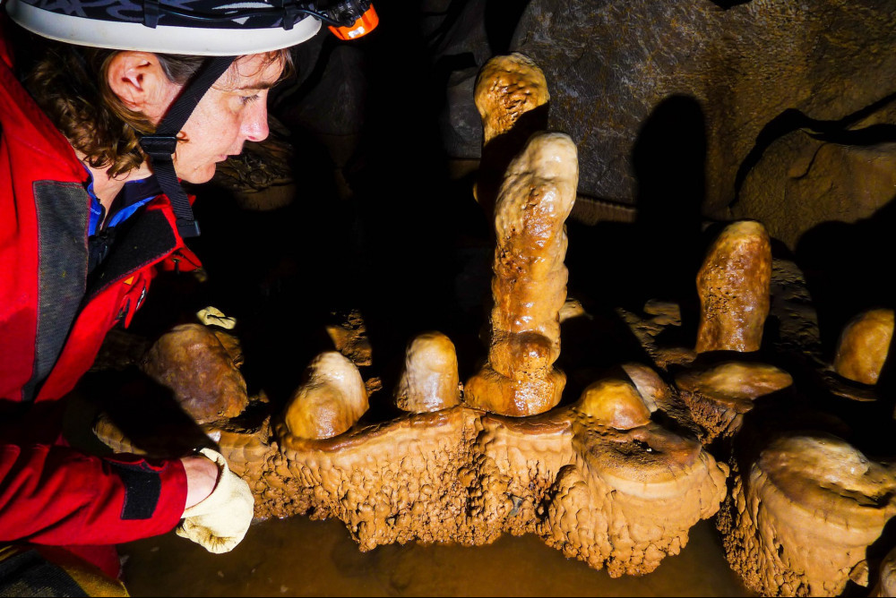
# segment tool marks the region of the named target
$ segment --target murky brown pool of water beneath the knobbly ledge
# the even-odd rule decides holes
[[[409,543],[360,552],[340,521],[307,517],[253,525],[228,554],[210,554],[173,533],[120,551],[134,596],[752,595],[728,568],[709,521],[695,525],[681,554],[650,575],[618,579],[531,534],[475,548]]]

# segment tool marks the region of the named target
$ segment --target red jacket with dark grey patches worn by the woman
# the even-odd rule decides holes
[[[168,200],[160,196],[134,217],[87,284],[87,175],[72,146],[13,76],[3,26],[4,15],[0,542],[111,544],[163,534],[184,510],[186,476],[179,460],[87,456],[39,438],[37,428],[18,416],[73,389],[108,330],[130,323],[155,269],[187,250]],[[187,252],[186,263],[192,257]],[[22,403],[36,406],[23,409]]]

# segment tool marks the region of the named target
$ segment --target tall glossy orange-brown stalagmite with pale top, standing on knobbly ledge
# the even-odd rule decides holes
[[[575,144],[556,132],[534,135],[507,170],[495,206],[491,344],[487,365],[465,386],[471,406],[523,416],[560,402],[566,379],[554,362],[566,299],[564,221],[578,177]]]

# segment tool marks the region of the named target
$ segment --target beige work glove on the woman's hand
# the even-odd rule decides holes
[[[230,471],[227,460],[219,452],[212,449],[199,452],[218,464],[218,484],[205,500],[184,511],[177,535],[209,552],[229,552],[243,539],[252,523],[252,491],[249,484]]]

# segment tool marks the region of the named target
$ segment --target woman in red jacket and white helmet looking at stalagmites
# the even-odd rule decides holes
[[[18,26],[56,40],[25,86],[13,54],[31,48],[11,47],[0,12],[0,542],[78,544],[115,576],[111,545],[182,518],[178,533],[212,551],[246,533],[251,493],[219,454],[90,457],[57,441],[43,409],[130,323],[158,269],[198,264],[177,179],[204,183],[267,136],[286,48],[328,19],[233,5],[7,0]]]

